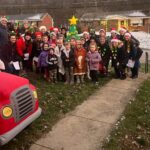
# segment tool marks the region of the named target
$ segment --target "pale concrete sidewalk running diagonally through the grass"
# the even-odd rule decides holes
[[[111,80],[60,120],[30,150],[97,150],[146,78],[140,74],[135,80]]]

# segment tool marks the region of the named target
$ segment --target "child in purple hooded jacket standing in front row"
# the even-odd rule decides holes
[[[41,69],[42,72],[44,72],[44,78],[46,80],[49,80],[48,63],[46,62],[48,52],[49,52],[49,44],[44,43],[42,52],[40,53],[38,58],[38,67]]]

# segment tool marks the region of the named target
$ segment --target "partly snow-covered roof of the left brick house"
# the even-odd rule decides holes
[[[8,20],[18,20],[18,21],[41,21],[42,18],[48,13],[39,13],[39,14],[19,14],[19,15],[9,15]],[[49,14],[48,14],[49,15]]]

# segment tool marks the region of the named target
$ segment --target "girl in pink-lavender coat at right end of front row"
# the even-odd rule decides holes
[[[94,83],[98,83],[99,62],[102,60],[97,51],[96,44],[90,44],[89,52],[87,54],[87,61],[90,69],[90,77]]]

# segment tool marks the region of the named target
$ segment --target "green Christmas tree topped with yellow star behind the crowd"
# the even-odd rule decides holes
[[[70,21],[70,26],[69,26],[69,32],[67,33],[67,41],[69,41],[71,38],[79,39],[78,36],[78,31],[77,31],[77,21],[78,19],[73,16]]]

